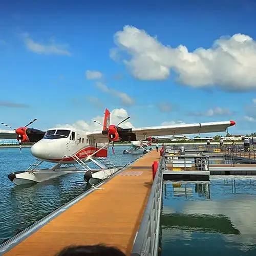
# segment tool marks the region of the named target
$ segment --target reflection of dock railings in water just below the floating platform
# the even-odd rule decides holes
[[[196,182],[184,182],[173,183],[172,181],[164,181],[164,195],[167,197],[166,184],[171,183],[173,185],[173,195],[175,197],[193,197],[193,185],[195,185],[195,193],[198,193],[199,197],[206,197],[210,199],[210,182],[209,181],[196,181]]]

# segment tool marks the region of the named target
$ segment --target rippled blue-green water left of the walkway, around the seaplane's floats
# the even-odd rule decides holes
[[[115,155],[109,151],[109,159],[116,165],[124,165],[140,156],[123,154],[126,148],[116,146]],[[0,148],[0,244],[88,189],[83,174],[67,174],[26,187],[15,186],[7,178],[34,161],[30,148],[23,148],[22,154],[19,148]],[[48,166],[52,164],[40,165]]]

